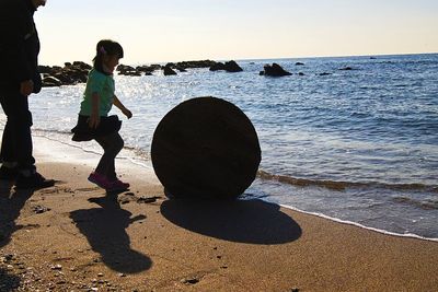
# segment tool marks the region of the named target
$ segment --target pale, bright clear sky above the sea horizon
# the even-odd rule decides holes
[[[47,0],[39,63],[123,63],[438,52],[437,0]]]

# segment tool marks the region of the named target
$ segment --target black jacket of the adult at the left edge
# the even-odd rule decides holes
[[[0,86],[16,90],[33,80],[41,91],[38,72],[39,38],[31,0],[0,0]]]

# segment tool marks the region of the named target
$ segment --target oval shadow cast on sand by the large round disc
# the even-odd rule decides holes
[[[253,200],[166,200],[161,213],[186,230],[238,243],[284,244],[298,240],[301,227],[278,205]]]

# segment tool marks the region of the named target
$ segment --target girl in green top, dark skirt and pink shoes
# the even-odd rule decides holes
[[[124,140],[118,135],[122,121],[116,115],[108,116],[114,104],[127,118],[132,117],[130,110],[114,94],[113,72],[123,56],[124,51],[118,43],[110,39],[97,43],[78,125],[71,130],[74,133],[73,141],[94,139],[103,148],[104,153],[95,171],[90,174],[89,180],[107,191],[124,191],[129,188],[129,184],[119,180],[115,172],[114,160],[124,147]]]

